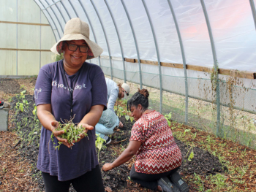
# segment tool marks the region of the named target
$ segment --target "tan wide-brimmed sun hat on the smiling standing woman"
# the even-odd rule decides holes
[[[80,20],[80,18],[72,18],[65,25],[63,37],[59,42],[53,45],[50,50],[53,53],[60,55],[64,41],[83,39],[89,46],[87,59],[97,58],[103,52],[102,47],[99,47],[95,42],[92,42],[89,36],[89,25],[83,20]]]

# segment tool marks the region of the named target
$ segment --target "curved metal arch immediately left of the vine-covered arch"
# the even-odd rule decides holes
[[[183,68],[184,68],[184,77],[185,77],[185,89],[186,89],[186,93],[185,93],[185,123],[187,124],[187,120],[188,120],[188,108],[189,108],[189,88],[188,88],[188,85],[187,85],[187,66],[186,66],[186,55],[185,55],[185,52],[184,52],[184,46],[183,46],[183,42],[182,42],[182,39],[181,39],[181,31],[179,30],[179,27],[178,27],[178,22],[177,22],[177,18],[176,18],[176,15],[175,15],[175,12],[173,10],[173,5],[171,4],[170,0],[167,0],[168,1],[168,4],[169,4],[169,7],[170,7],[170,12],[172,13],[173,15],[173,20],[174,20],[174,23],[175,23],[175,26],[176,26],[176,31],[177,31],[177,34],[178,34],[178,41],[179,41],[179,44],[181,46],[181,55],[182,55],[182,61],[183,61]]]

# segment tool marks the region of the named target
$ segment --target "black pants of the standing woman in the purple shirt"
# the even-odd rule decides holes
[[[86,172],[86,174],[72,180],[59,181],[57,176],[51,176],[45,172],[42,172],[42,178],[45,183],[45,192],[69,192],[70,184],[72,184],[75,191],[78,192],[105,191],[99,165],[91,169],[91,172]]]

